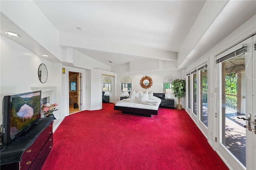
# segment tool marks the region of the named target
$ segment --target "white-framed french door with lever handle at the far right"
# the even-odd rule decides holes
[[[216,151],[231,169],[256,169],[256,38],[216,57]]]

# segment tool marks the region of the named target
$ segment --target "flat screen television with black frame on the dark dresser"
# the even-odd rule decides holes
[[[41,118],[41,91],[4,96],[2,107],[2,144],[10,144]]]

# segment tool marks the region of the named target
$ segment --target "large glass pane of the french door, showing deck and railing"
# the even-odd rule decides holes
[[[222,63],[222,144],[246,166],[244,54]]]

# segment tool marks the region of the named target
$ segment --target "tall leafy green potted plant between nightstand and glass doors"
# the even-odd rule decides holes
[[[174,91],[175,97],[178,97],[178,104],[176,108],[178,110],[182,110],[180,99],[186,94],[186,80],[176,79],[172,81],[172,91]]]

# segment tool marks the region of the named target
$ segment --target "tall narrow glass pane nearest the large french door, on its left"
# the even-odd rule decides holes
[[[208,127],[208,71],[207,69],[203,69],[200,71],[200,120],[206,127]]]

